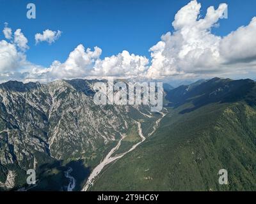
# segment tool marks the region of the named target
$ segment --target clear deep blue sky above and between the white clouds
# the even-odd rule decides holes
[[[247,25],[255,16],[253,0],[200,0],[202,15],[207,7],[228,4],[228,19],[213,29],[216,35],[226,35],[240,25]],[[122,50],[150,56],[148,49],[160,40],[162,34],[172,31],[175,13],[189,1],[180,0],[44,0],[0,1],[0,24],[8,22],[12,29],[20,28],[28,38],[27,59],[35,64],[49,66],[52,61],[65,61],[77,45],[102,48],[101,57],[118,54]],[[26,18],[26,5],[36,4],[36,19]],[[35,33],[45,29],[60,30],[61,38],[48,45],[35,46]],[[3,38],[3,33],[1,33]]]

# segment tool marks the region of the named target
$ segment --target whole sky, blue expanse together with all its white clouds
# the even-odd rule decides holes
[[[26,16],[28,3],[36,6],[35,19]],[[0,5],[2,82],[255,75],[253,0],[0,0]],[[225,10],[228,18],[221,18]]]

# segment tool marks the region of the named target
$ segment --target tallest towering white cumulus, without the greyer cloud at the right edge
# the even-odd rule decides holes
[[[150,48],[152,65],[148,77],[195,75],[216,69],[220,63],[220,36],[211,34],[211,28],[222,17],[227,4],[207,9],[205,18],[198,19],[201,4],[191,1],[175,15],[175,31],[166,33]]]

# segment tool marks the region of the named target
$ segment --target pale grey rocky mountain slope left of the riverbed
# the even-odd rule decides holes
[[[58,161],[82,161],[90,171],[134,125],[134,117],[145,117],[145,107],[95,105],[94,82],[0,85],[1,189],[24,186],[31,168],[39,172],[38,177],[48,177],[51,169],[51,176],[58,171],[54,175],[63,179]]]

